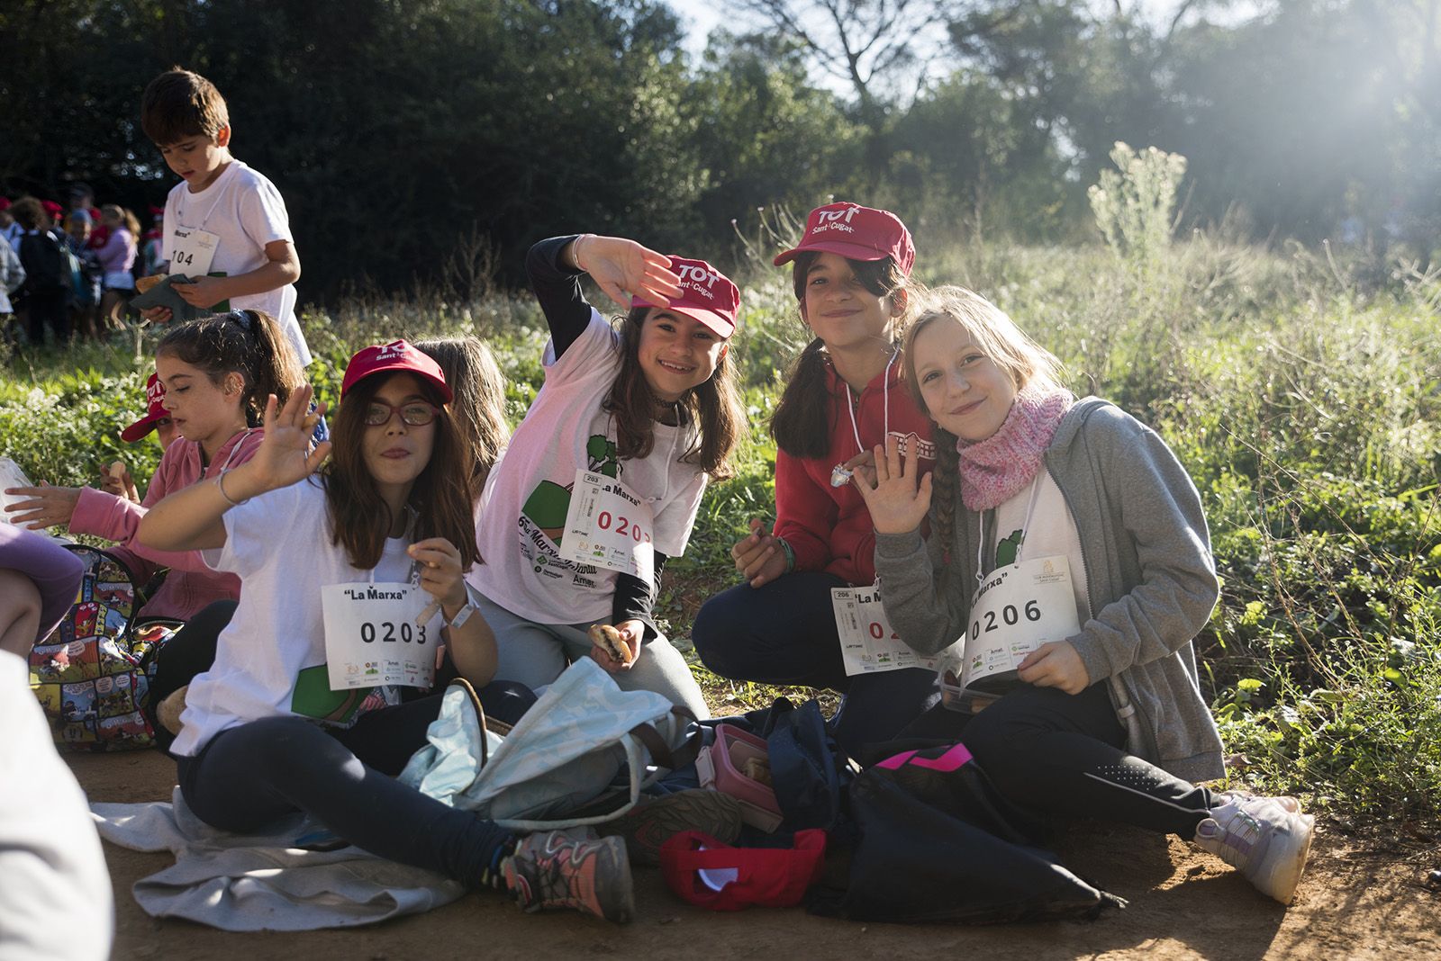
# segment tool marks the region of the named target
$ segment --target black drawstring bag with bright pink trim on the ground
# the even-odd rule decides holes
[[[857,829],[844,891],[811,914],[898,924],[1095,918],[1125,902],[1029,844],[1027,821],[964,745],[906,751],[850,784]]]

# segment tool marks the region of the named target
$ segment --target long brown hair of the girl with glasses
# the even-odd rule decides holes
[[[331,427],[333,453],[323,483],[330,508],[330,542],[343,547],[353,567],[370,570],[380,563],[385,538],[395,518],[386,506],[375,478],[365,465],[365,411],[380,386],[395,374],[366,377],[350,387]],[[476,496],[471,489],[470,465],[463,462],[464,442],[455,416],[444,404],[440,393],[416,378],[425,398],[440,407],[435,424],[435,446],[431,460],[415,478],[411,506],[416,521],[412,538],[442,537],[460,550],[461,570],[480,561],[476,550]]]

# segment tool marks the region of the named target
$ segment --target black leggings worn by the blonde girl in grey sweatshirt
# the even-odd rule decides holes
[[[950,715],[950,716],[947,716]],[[967,719],[935,708],[904,737],[960,737],[1009,800],[1035,811],[1192,839],[1210,791],[1124,751],[1107,685],[1078,695],[1022,685]]]

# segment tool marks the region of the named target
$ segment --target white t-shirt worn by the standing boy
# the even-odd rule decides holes
[[[219,237],[210,270],[225,276],[249,273],[267,262],[265,245],[291,240],[290,214],[280,191],[264,174],[232,160],[215,183],[199,193],[180,183],[166,197],[166,226],[160,236],[160,259],[170,260],[176,227],[205,230]],[[183,270],[182,270],[183,273]],[[295,319],[295,285],[231,298],[233,311],[265,311],[280,324],[300,357],[310,364],[310,347]]]

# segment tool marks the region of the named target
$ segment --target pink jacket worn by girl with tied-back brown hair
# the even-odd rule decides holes
[[[242,430],[220,445],[203,476],[215,478],[226,466],[245,463],[259,446],[259,430]],[[153,504],[200,478],[200,445],[180,437],[166,449],[141,504],[95,488],[81,488],[81,499],[71,518],[72,532],[115,541],[111,552],[130,565],[141,586],[161,567],[170,568],[164,584],[141,609],[146,617],[189,620],[212,601],[236,600],[241,596],[241,578],[212,571],[200,560],[199,551],[156,551],[135,541],[140,518],[146,516]]]

